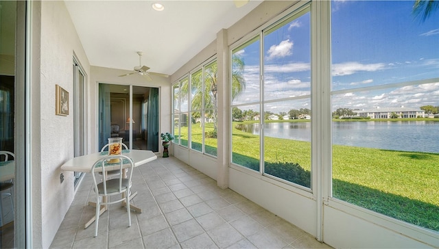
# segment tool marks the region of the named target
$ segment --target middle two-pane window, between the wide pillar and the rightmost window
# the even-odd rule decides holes
[[[231,62],[232,162],[307,188],[310,31],[309,8],[302,8],[233,49]]]

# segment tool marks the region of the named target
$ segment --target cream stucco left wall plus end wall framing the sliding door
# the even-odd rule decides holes
[[[34,2],[32,14],[32,246],[49,248],[75,196],[73,172],[60,170],[74,156],[73,55],[86,74],[87,153],[97,151],[97,83],[158,87],[160,131],[171,129],[171,86],[166,78],[122,79],[125,70],[91,69],[63,1]],[[69,92],[68,116],[55,114],[56,84]]]

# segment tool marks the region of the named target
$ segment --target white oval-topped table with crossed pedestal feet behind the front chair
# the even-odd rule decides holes
[[[95,163],[97,160],[101,159],[102,157],[105,157],[108,155],[107,153],[93,153],[88,155],[83,155],[80,157],[73,157],[69,161],[66,161],[62,166],[61,170],[67,170],[67,171],[74,171],[74,172],[85,172],[85,173],[91,173],[91,168],[93,167],[93,163]],[[145,163],[148,163],[150,161],[154,161],[157,159],[157,156],[151,151],[151,150],[128,150],[126,152],[125,150],[122,150],[122,155],[126,155],[127,157],[130,157],[132,161],[134,162],[134,167],[141,166]],[[108,170],[111,170],[108,168]],[[99,172],[99,168],[96,168],[96,172]],[[102,170],[100,170],[102,171]],[[134,196],[137,195],[137,192],[132,193],[130,195],[130,200],[134,198]],[[95,202],[88,202],[88,205],[96,206]],[[126,205],[126,203],[124,204]],[[130,204],[130,209],[133,209],[139,213],[142,212],[142,209],[139,209],[139,207],[135,207],[134,205]],[[102,207],[101,211],[99,211],[99,215],[104,213],[107,210],[107,207]],[[91,220],[89,220],[84,228],[87,228],[90,226],[94,221],[95,217],[93,217]]]

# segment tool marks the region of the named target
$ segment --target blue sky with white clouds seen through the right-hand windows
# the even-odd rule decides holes
[[[427,21],[412,15],[414,1],[332,2],[332,89],[349,90],[439,78],[439,10]],[[267,100],[310,94],[309,14],[264,40]],[[246,92],[233,103],[259,99],[259,42],[240,49]],[[439,105],[439,82],[333,95],[333,109]],[[270,103],[266,111],[310,108],[309,100]],[[250,109],[241,107],[241,109]]]

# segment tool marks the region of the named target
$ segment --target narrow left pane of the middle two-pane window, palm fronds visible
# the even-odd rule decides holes
[[[232,163],[259,172],[261,82],[259,36],[232,51]]]

